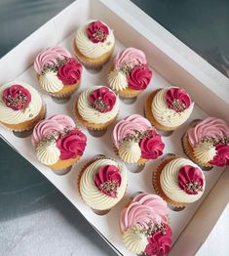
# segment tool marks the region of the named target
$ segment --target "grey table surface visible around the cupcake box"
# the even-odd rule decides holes
[[[0,57],[71,2],[0,0]],[[134,2],[229,74],[228,0]],[[3,140],[0,152],[0,255],[116,255],[68,200]]]

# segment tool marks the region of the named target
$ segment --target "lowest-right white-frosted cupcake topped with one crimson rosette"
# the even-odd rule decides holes
[[[153,187],[173,207],[185,207],[201,198],[206,181],[197,164],[186,158],[171,156],[153,172]]]

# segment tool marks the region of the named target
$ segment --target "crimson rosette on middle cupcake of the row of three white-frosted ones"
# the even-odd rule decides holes
[[[116,95],[107,87],[102,86],[90,94],[89,102],[99,112],[108,112],[116,103]]]

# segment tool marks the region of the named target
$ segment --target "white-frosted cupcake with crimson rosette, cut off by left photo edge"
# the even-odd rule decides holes
[[[25,82],[13,81],[0,87],[0,123],[9,130],[31,130],[45,117],[46,106],[39,93]]]

